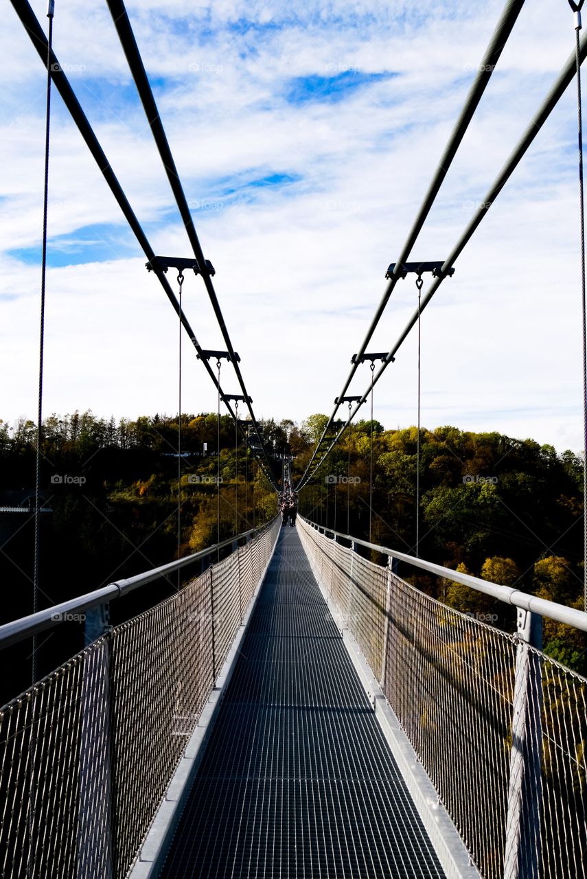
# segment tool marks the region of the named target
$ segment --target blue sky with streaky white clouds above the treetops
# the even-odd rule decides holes
[[[127,8],[255,410],[330,413],[482,59],[501,3],[185,4]],[[156,252],[189,245],[105,4],[56,4],[63,69]],[[46,26],[45,4],[33,9]],[[573,48],[559,0],[526,4],[413,251],[452,249]],[[44,71],[14,11],[0,36],[0,418],[32,416]],[[423,422],[583,447],[576,106],[571,88],[423,320]],[[54,93],[46,410],[177,409],[177,325]],[[395,290],[373,350],[413,312]],[[185,288],[202,345],[205,291]],[[416,417],[409,338],[375,391],[388,427]],[[185,354],[185,405],[214,389]],[[15,370],[14,363],[20,367]],[[351,393],[362,393],[359,370]],[[223,386],[236,392],[236,379]]]

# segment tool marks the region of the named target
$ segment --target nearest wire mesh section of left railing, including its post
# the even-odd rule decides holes
[[[0,711],[3,879],[108,874],[106,669],[100,639]]]

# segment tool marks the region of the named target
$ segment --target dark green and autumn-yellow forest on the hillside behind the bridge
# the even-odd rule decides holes
[[[262,422],[276,483],[289,456],[294,483],[299,481],[327,420],[314,414],[300,425]],[[248,422],[242,425],[248,432]],[[32,421],[0,421],[3,510],[33,503],[35,449]],[[207,548],[276,514],[275,491],[229,416],[182,415],[181,459],[177,450],[178,416],[115,421],[86,411],[44,420],[41,494],[50,512],[41,515],[41,607],[168,562],[178,552]],[[413,555],[418,509],[420,556],[583,607],[583,461],[576,454],[496,432],[421,428],[419,505],[417,472],[416,427],[385,430],[377,421],[359,421],[301,490],[301,515],[364,540],[371,534],[371,542]],[[32,515],[3,512],[0,527],[2,621],[8,621],[32,610]],[[515,625],[511,608],[481,593],[415,569],[400,573],[461,612],[508,630]],[[124,607],[114,603],[113,621],[174,588],[160,584],[120,601]],[[69,649],[67,633],[60,638]],[[546,622],[544,643],[564,665],[582,668],[582,636]]]

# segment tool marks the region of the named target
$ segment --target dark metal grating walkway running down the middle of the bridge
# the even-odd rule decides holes
[[[163,876],[444,876],[283,528]]]

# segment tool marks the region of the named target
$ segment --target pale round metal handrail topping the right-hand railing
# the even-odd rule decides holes
[[[373,549],[375,552],[379,552],[383,556],[396,558],[400,562],[407,562],[415,568],[421,568],[431,574],[436,574],[438,577],[445,577],[454,580],[456,583],[462,583],[465,586],[469,586],[471,589],[475,589],[476,592],[484,592],[492,598],[503,601],[504,604],[519,607],[521,610],[530,611],[533,614],[546,616],[550,620],[564,622],[568,626],[574,626],[575,628],[581,629],[583,632],[587,632],[587,614],[582,610],[577,610],[575,607],[567,607],[566,605],[558,604],[556,601],[539,599],[536,595],[530,595],[527,592],[520,592],[519,589],[514,589],[512,586],[491,583],[489,580],[482,580],[479,577],[473,577],[472,574],[462,574],[459,570],[452,570],[451,568],[443,567],[441,564],[426,562],[423,558],[416,558],[416,556],[409,556],[407,553],[398,552],[395,549],[380,547],[377,544],[369,543],[368,541],[361,541],[357,537],[352,537],[351,534],[341,534],[338,531],[334,531],[332,528],[327,528],[322,525],[317,525],[315,522],[310,522],[309,519],[305,519],[303,516],[301,516],[301,519],[307,522],[309,526],[315,528],[316,531],[322,532],[323,534],[332,534],[334,537],[342,537],[345,541],[359,543],[360,546]]]

